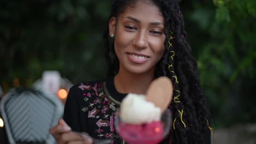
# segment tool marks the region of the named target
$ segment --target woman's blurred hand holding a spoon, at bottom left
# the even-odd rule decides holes
[[[90,136],[84,133],[77,133],[71,131],[71,128],[66,124],[63,119],[59,120],[59,123],[50,129],[51,135],[54,136],[58,144],[92,144],[93,141]]]

